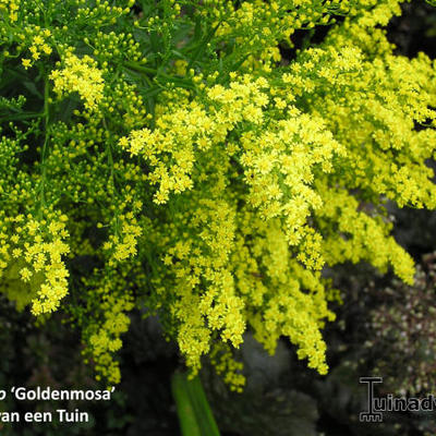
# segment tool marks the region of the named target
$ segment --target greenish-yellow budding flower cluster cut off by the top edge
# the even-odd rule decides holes
[[[210,2],[208,2],[210,3]],[[359,2],[334,0],[319,2],[316,0],[262,0],[211,1],[215,8],[205,8],[202,14],[213,21],[216,37],[222,44],[234,41],[245,58],[243,65],[249,71],[255,69],[270,72],[281,60],[279,43],[292,45],[292,35],[299,29],[310,29],[316,25],[335,23],[335,14],[358,13],[362,8]],[[362,2],[363,8],[376,3]]]

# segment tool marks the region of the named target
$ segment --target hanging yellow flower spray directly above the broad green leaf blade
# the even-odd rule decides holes
[[[198,237],[179,240],[167,249],[164,258],[166,274],[174,275],[175,279],[173,288],[166,292],[178,296],[171,311],[180,323],[179,347],[193,373],[201,366],[202,354],[209,351],[214,331],[220,332],[222,341],[239,347],[245,329],[243,301],[238,296],[229,267],[234,211],[217,197],[197,201],[195,209],[180,211],[175,218],[179,229],[183,226],[187,230],[186,237],[192,231],[198,232]],[[172,232],[177,235],[178,229]],[[205,292],[202,284],[206,286]]]

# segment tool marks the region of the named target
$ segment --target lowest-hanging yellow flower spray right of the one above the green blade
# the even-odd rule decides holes
[[[247,211],[241,226],[246,237],[237,243],[233,264],[255,338],[274,353],[280,336],[289,337],[300,359],[307,358],[310,367],[325,374],[326,344],[319,329],[335,315],[327,308],[320,274],[291,256],[280,220],[264,221]],[[243,268],[245,264],[250,267]]]

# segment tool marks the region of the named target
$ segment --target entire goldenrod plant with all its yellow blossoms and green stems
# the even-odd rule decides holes
[[[234,389],[247,330],[326,374],[324,267],[411,283],[385,205],[436,207],[436,64],[395,53],[400,2],[46,3],[0,0],[26,77],[0,100],[1,290],[65,311],[109,384],[133,310]]]

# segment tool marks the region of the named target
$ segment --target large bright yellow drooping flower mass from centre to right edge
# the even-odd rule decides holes
[[[389,45],[385,46],[391,50]],[[172,96],[171,102],[159,106],[160,117],[154,130],[132,131],[129,137],[120,140],[123,149],[144,157],[150,165],[153,171],[148,180],[159,185],[155,203],[170,202],[169,194],[174,192],[182,194],[191,206],[185,210],[180,202],[177,203],[179,207],[172,211],[172,219],[183,226],[179,233],[171,228],[170,239],[179,243],[174,249],[162,250],[168,253],[164,262],[173,271],[178,283],[179,301],[172,305],[172,314],[179,319],[179,346],[194,372],[199,367],[202,354],[209,352],[210,341],[216,337],[214,330],[220,331],[221,340],[233,338],[231,341],[235,347],[241,342],[245,316],[255,337],[268,351],[274,351],[280,336],[288,336],[299,347],[299,356],[307,358],[308,366],[325,374],[326,346],[319,329],[323,319],[334,319],[334,314],[327,308],[328,292],[319,272],[310,270],[319,271],[326,261],[335,265],[365,259],[382,270],[391,266],[404,281],[412,280],[413,262],[389,237],[390,226],[380,218],[358,211],[359,202],[352,195],[347,191],[342,195],[340,190],[331,186],[335,181],[343,183],[336,175],[336,168],[341,165],[340,177],[347,178],[349,186],[375,191],[377,195],[389,194],[387,190],[377,189],[377,178],[386,174],[391,180],[391,192],[398,203],[401,198],[407,203],[424,195],[425,203],[415,199],[414,205],[432,207],[433,204],[431,198],[435,189],[428,180],[429,170],[422,171],[425,168],[423,158],[431,156],[433,147],[426,147],[420,136],[424,141],[424,137],[433,137],[434,132],[426,130],[416,135],[413,122],[433,117],[426,108],[434,89],[422,89],[417,96],[407,90],[416,87],[416,77],[400,75],[392,82],[393,61],[388,68],[386,64],[370,65],[370,62],[360,46],[351,44],[350,39],[344,47],[338,48],[336,43],[308,49],[271,82],[249,74],[233,75],[229,86],[214,85],[205,90],[201,102],[189,101],[180,93],[175,105]],[[415,62],[408,68],[423,71],[426,77],[433,74],[429,65],[425,66],[428,62],[424,58]],[[397,71],[404,71],[404,68],[400,64]],[[367,93],[376,86],[376,80],[384,84],[384,89],[401,86],[402,90],[386,92],[389,99],[382,100],[377,109],[373,109],[371,105],[377,104],[377,99],[368,101]],[[318,94],[319,89],[326,88],[331,88],[327,97],[324,93]],[[335,88],[343,88],[346,97],[337,99]],[[269,95],[274,95],[274,99]],[[378,95],[383,98],[384,93]],[[408,104],[405,98],[409,98]],[[312,113],[304,113],[299,107],[308,101]],[[355,102],[359,105],[360,101],[362,107],[356,111]],[[408,180],[415,177],[420,182],[399,183],[400,177],[404,177],[400,175],[404,173],[404,167],[387,173],[380,150],[368,153],[358,146],[364,134],[372,135],[366,140],[367,144],[382,134],[374,130],[374,124],[377,125],[374,121],[363,119],[368,110],[373,118],[383,120],[384,138],[396,149],[405,134],[410,144],[415,144],[413,167],[420,165],[420,171],[410,170]],[[356,117],[359,121],[351,123],[350,120]],[[402,117],[402,124],[398,117]],[[414,117],[414,120],[408,121],[408,117]],[[387,131],[389,136],[386,136]],[[351,145],[350,141],[354,138],[356,144]],[[382,140],[380,136],[385,152],[388,143]],[[380,161],[378,171],[374,171],[373,156]],[[372,173],[354,170],[363,160]],[[391,161],[395,161],[393,155]],[[232,170],[234,165],[239,170]],[[349,172],[343,172],[344,168]],[[426,190],[419,189],[420,185]],[[233,189],[235,192],[231,193]],[[226,210],[232,198],[240,197],[246,190],[246,215],[238,226],[235,216],[241,215],[241,210],[233,210],[225,218]],[[230,245],[234,256],[232,263],[228,255],[218,261],[214,257],[218,247],[222,256],[227,244],[221,242],[214,249],[198,251],[197,238],[191,237],[197,232],[191,226],[202,219],[206,204],[194,198],[209,195],[207,192],[222,213],[215,218],[205,216],[199,238],[204,243],[203,234],[209,226],[228,231],[233,241]],[[330,235],[334,222],[338,223],[339,233]],[[159,231],[165,241],[168,230],[156,230]],[[246,231],[254,242],[238,238],[239,231]],[[254,238],[256,234],[258,237]],[[379,249],[382,245],[384,250]],[[270,257],[268,253],[274,246],[279,251]],[[215,265],[213,276],[204,269],[209,263]],[[219,270],[220,265],[223,270]],[[250,270],[246,269],[249,266]],[[231,295],[235,295],[235,300]],[[222,299],[232,302],[232,318],[228,317],[229,308],[221,303]],[[241,316],[242,313],[245,315]],[[235,330],[238,334],[223,334],[237,326],[241,326]]]

